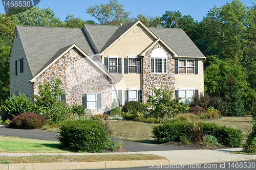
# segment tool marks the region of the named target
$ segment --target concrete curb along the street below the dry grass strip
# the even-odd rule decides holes
[[[13,163],[0,164],[0,170],[65,170],[65,169],[105,169],[143,167],[153,164],[168,164],[169,160],[138,160],[138,161],[102,161],[102,162],[61,162],[61,163]],[[177,163],[171,161],[171,163]]]

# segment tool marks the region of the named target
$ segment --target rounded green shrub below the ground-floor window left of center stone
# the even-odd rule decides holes
[[[144,113],[145,112],[145,106],[141,102],[131,101],[123,105],[122,107],[123,112],[135,112],[135,113]]]

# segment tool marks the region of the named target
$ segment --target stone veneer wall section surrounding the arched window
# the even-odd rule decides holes
[[[151,73],[151,53],[156,48],[161,48],[167,55],[167,74]],[[142,103],[146,103],[148,95],[151,95],[151,87],[160,87],[161,85],[169,86],[169,89],[175,89],[174,74],[175,63],[172,53],[162,43],[156,43],[150,50],[146,52],[146,55],[142,60]]]

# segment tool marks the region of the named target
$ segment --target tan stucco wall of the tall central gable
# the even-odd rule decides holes
[[[154,37],[148,34],[142,27],[140,27],[142,33],[134,33],[135,28],[125,34],[102,56],[103,64],[104,57],[118,56],[119,58],[122,58],[122,74],[111,74],[111,76],[113,76],[117,80],[113,84],[113,88],[122,90],[123,105],[125,102],[124,90],[128,90],[128,88],[138,88],[138,90],[141,90],[140,74],[124,74],[124,58],[127,58],[127,56],[137,56],[155,40]]]

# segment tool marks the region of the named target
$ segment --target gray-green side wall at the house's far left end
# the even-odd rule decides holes
[[[16,31],[17,37],[14,36],[12,52],[9,59],[10,62],[10,93],[22,92],[26,96],[32,97],[33,95],[33,84],[29,83],[32,79],[32,74],[29,68],[29,64],[20,41],[19,35]],[[19,62],[17,62],[17,76],[15,76],[15,61],[23,58],[23,72],[20,72]]]

